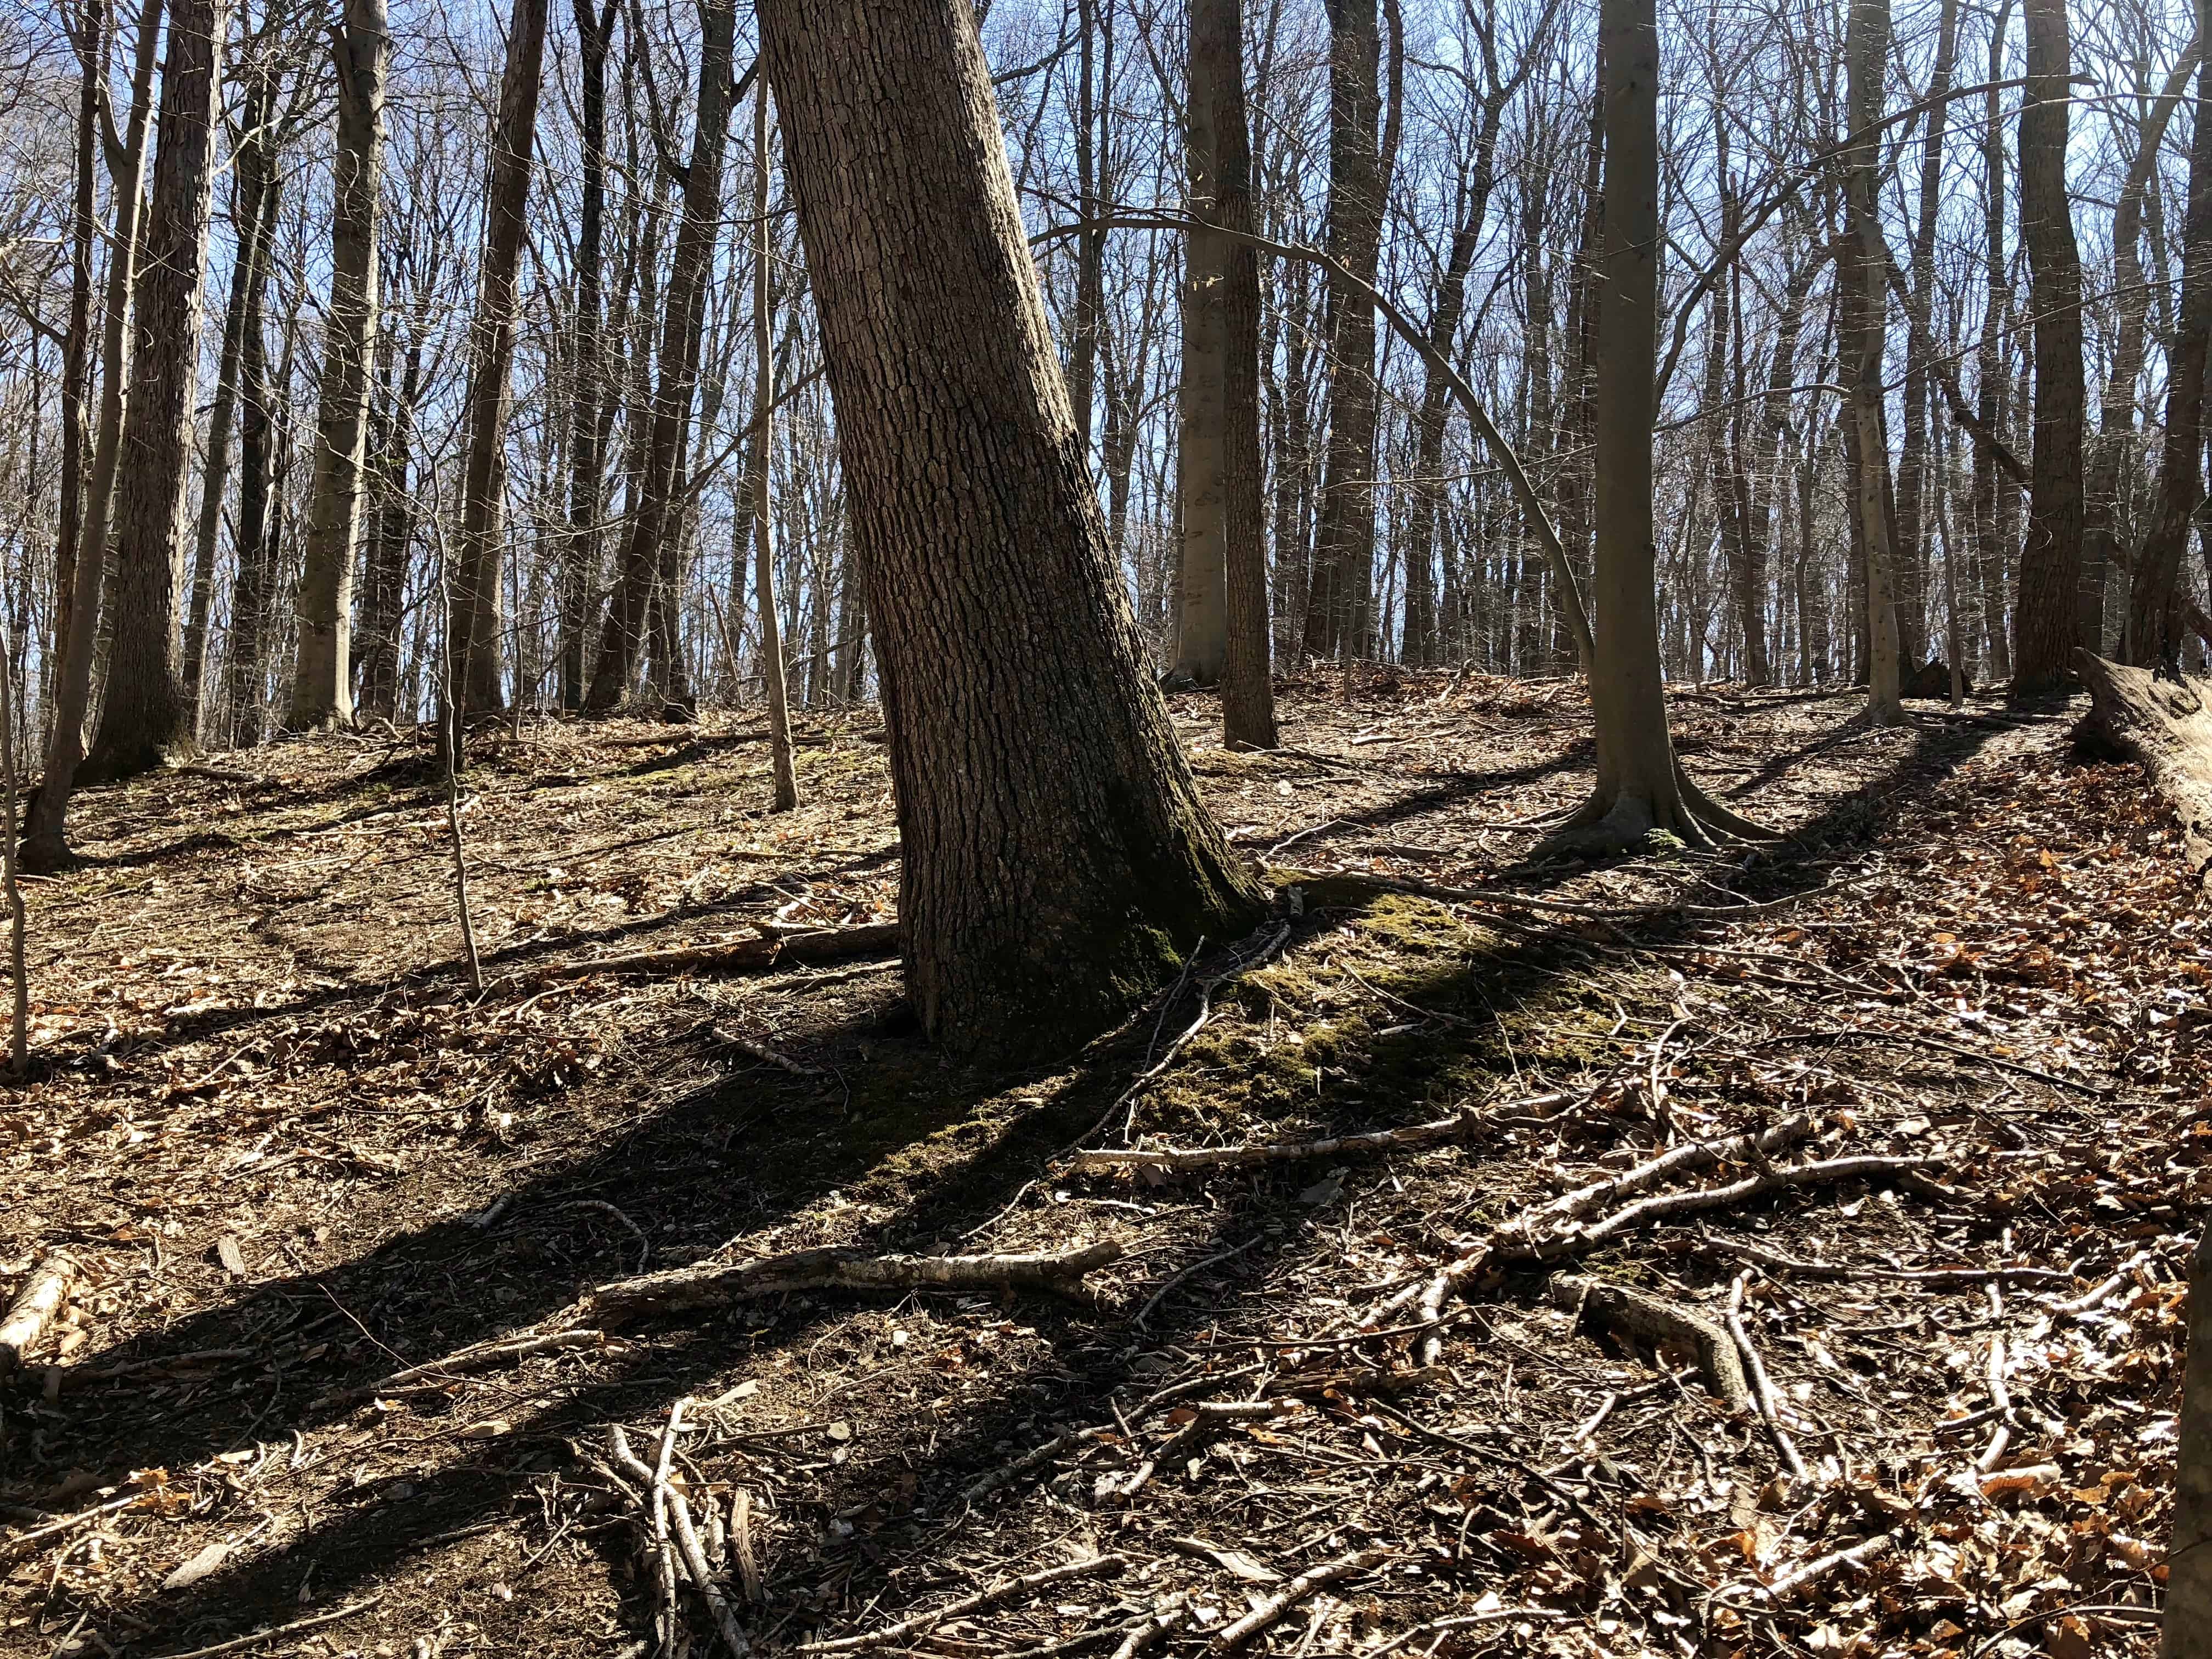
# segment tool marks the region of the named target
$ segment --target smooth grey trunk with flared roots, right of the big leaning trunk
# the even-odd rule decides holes
[[[1590,712],[1597,787],[1555,832],[1559,849],[1619,849],[1668,832],[1705,847],[1714,832],[1765,832],[1708,799],[1674,759],[1659,664],[1652,546],[1652,414],[1659,338],[1659,13],[1604,0],[1604,210],[1595,281],[1595,582]]]

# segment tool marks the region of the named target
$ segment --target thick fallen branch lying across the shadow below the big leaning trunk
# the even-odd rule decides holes
[[[1102,1239],[1079,1250],[1004,1256],[863,1256],[852,1250],[796,1250],[728,1267],[670,1267],[599,1285],[577,1305],[608,1325],[688,1307],[783,1296],[796,1290],[1048,1290],[1082,1292],[1084,1274],[1121,1256]]]

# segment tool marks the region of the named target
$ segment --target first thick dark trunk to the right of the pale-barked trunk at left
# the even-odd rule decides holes
[[[507,487],[509,369],[515,358],[515,272],[522,210],[531,197],[538,88],[546,46],[546,0],[515,0],[507,24],[507,73],[484,168],[484,261],[469,325],[467,460],[460,476],[460,549],[447,615],[449,684],[460,714],[495,710],[500,690],[500,498]],[[451,730],[451,721],[440,721]],[[458,759],[458,757],[456,757]]]

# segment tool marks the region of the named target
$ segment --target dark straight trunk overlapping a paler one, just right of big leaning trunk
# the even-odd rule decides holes
[[[1203,124],[1210,148],[1206,170],[1210,188],[1201,197],[1199,212],[1230,232],[1208,237],[1221,243],[1221,518],[1228,599],[1221,741],[1230,748],[1272,750],[1276,734],[1274,686],[1267,672],[1267,507],[1259,445],[1259,252],[1250,241],[1234,239],[1252,232],[1243,0],[1192,4],[1190,122],[1192,133]],[[1203,232],[1192,232],[1192,243],[1199,234]]]

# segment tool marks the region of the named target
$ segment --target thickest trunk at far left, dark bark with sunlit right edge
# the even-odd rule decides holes
[[[179,520],[192,456],[199,290],[208,270],[215,126],[228,0],[177,0],[161,62],[161,146],[131,345],[131,411],[115,493],[108,690],[86,781],[146,772],[190,741],[177,639]]]

